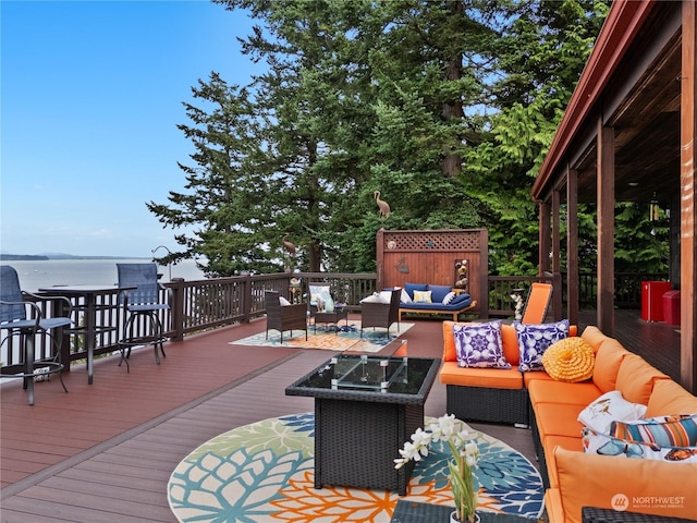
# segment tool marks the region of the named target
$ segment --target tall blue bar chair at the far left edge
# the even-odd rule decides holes
[[[45,318],[41,307],[35,302],[62,301],[65,303],[64,311],[68,316]],[[32,314],[27,315],[27,309]],[[62,336],[53,336],[52,331],[61,333],[63,327],[70,326],[73,321],[71,316],[71,303],[66,297],[38,296],[24,292],[20,288],[20,277],[17,271],[9,266],[0,266],[0,329],[7,330],[8,336],[2,343],[19,335],[20,353],[22,354],[23,370],[16,374],[2,374],[3,378],[23,378],[24,389],[27,390],[29,405],[34,404],[34,380],[41,375],[58,373],[63,390],[68,392],[63,382],[63,363],[61,362]],[[35,337],[36,335],[48,335],[51,338],[54,355],[35,361]],[[2,346],[0,343],[0,346]],[[10,343],[8,342],[8,346]],[[35,369],[39,370],[35,373]],[[39,378],[40,379],[40,378]]]

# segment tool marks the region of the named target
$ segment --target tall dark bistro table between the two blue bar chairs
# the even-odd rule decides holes
[[[84,313],[84,326],[74,329],[66,329],[68,332],[85,337],[85,351],[87,352],[87,382],[91,385],[95,365],[95,341],[98,333],[115,331],[118,326],[97,325],[97,311],[102,305],[97,303],[99,296],[119,294],[122,291],[135,289],[135,287],[119,285],[54,285],[39,289],[39,293],[52,296],[65,296],[69,300],[75,300],[73,308]],[[80,300],[84,300],[84,304],[80,305]],[[113,307],[109,305],[109,307]]]

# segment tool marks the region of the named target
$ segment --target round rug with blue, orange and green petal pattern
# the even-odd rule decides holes
[[[313,413],[295,414],[207,441],[170,477],[172,512],[180,522],[388,523],[399,499],[453,506],[447,479],[450,450],[438,445],[417,463],[405,497],[350,487],[316,489],[314,429]],[[537,470],[508,445],[477,434],[479,509],[538,518],[543,488]]]

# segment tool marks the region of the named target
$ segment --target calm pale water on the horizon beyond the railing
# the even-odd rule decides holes
[[[111,285],[119,281],[117,264],[147,264],[149,259],[49,259],[49,260],[3,260],[0,265],[14,267],[20,275],[20,287],[24,291],[35,292],[42,287],[99,284]],[[203,280],[206,277],[193,259],[185,259],[171,267],[158,267],[166,283],[172,278]]]

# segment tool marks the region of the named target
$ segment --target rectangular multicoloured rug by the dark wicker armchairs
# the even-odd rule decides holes
[[[307,327],[307,340],[305,340],[304,330],[294,330],[283,332],[283,343],[281,343],[281,333],[278,330],[269,330],[269,339],[266,339],[266,330],[258,335],[243,338],[242,340],[231,341],[231,345],[259,345],[259,346],[289,346],[297,349],[327,349],[330,351],[348,351],[348,352],[378,352],[400,336],[404,335],[414,324],[400,323],[398,329],[396,324],[390,328],[390,336],[387,336],[386,329],[372,329],[369,327],[363,331],[360,339],[360,321],[345,320],[340,321],[339,326],[320,324],[317,326],[309,325]]]

